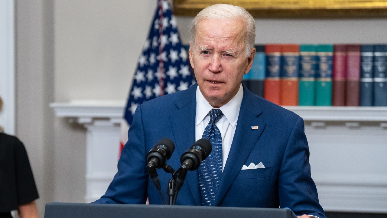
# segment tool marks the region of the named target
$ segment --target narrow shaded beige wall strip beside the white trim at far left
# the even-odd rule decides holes
[[[33,168],[43,215],[53,184],[53,4],[15,1],[16,135],[24,142]]]

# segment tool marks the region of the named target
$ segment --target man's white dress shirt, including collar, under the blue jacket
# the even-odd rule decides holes
[[[223,146],[223,166],[226,165],[228,153],[230,152],[231,144],[235,134],[236,124],[238,123],[239,109],[243,99],[242,84],[239,87],[238,93],[219,109],[223,112],[223,116],[215,123],[222,135]],[[205,127],[210,122],[209,112],[214,109],[210,103],[205,100],[204,96],[196,89],[196,117],[195,117],[195,141],[202,138]]]

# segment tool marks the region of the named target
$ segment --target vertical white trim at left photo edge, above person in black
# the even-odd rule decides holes
[[[14,0],[0,1],[0,95],[4,101],[0,125],[10,135],[15,135],[14,26]]]

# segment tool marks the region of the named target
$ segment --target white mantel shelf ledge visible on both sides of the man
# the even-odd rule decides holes
[[[121,119],[125,102],[77,100],[69,103],[51,103],[50,107],[54,108],[55,114],[58,117],[109,117]],[[286,106],[284,108],[295,112],[304,121],[354,121],[344,124],[348,127],[359,126],[357,122],[360,121],[377,121],[383,127],[387,122],[387,107]],[[323,122],[315,122],[313,124],[316,126],[325,125]]]

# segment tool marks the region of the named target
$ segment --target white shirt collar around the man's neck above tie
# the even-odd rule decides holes
[[[223,112],[228,122],[235,128],[238,121],[238,114],[243,99],[243,87],[242,84],[239,87],[236,95],[229,100],[226,104],[219,109]],[[196,88],[196,125],[199,125],[205,116],[213,109],[210,103],[205,100],[202,92],[199,90],[199,86]]]

